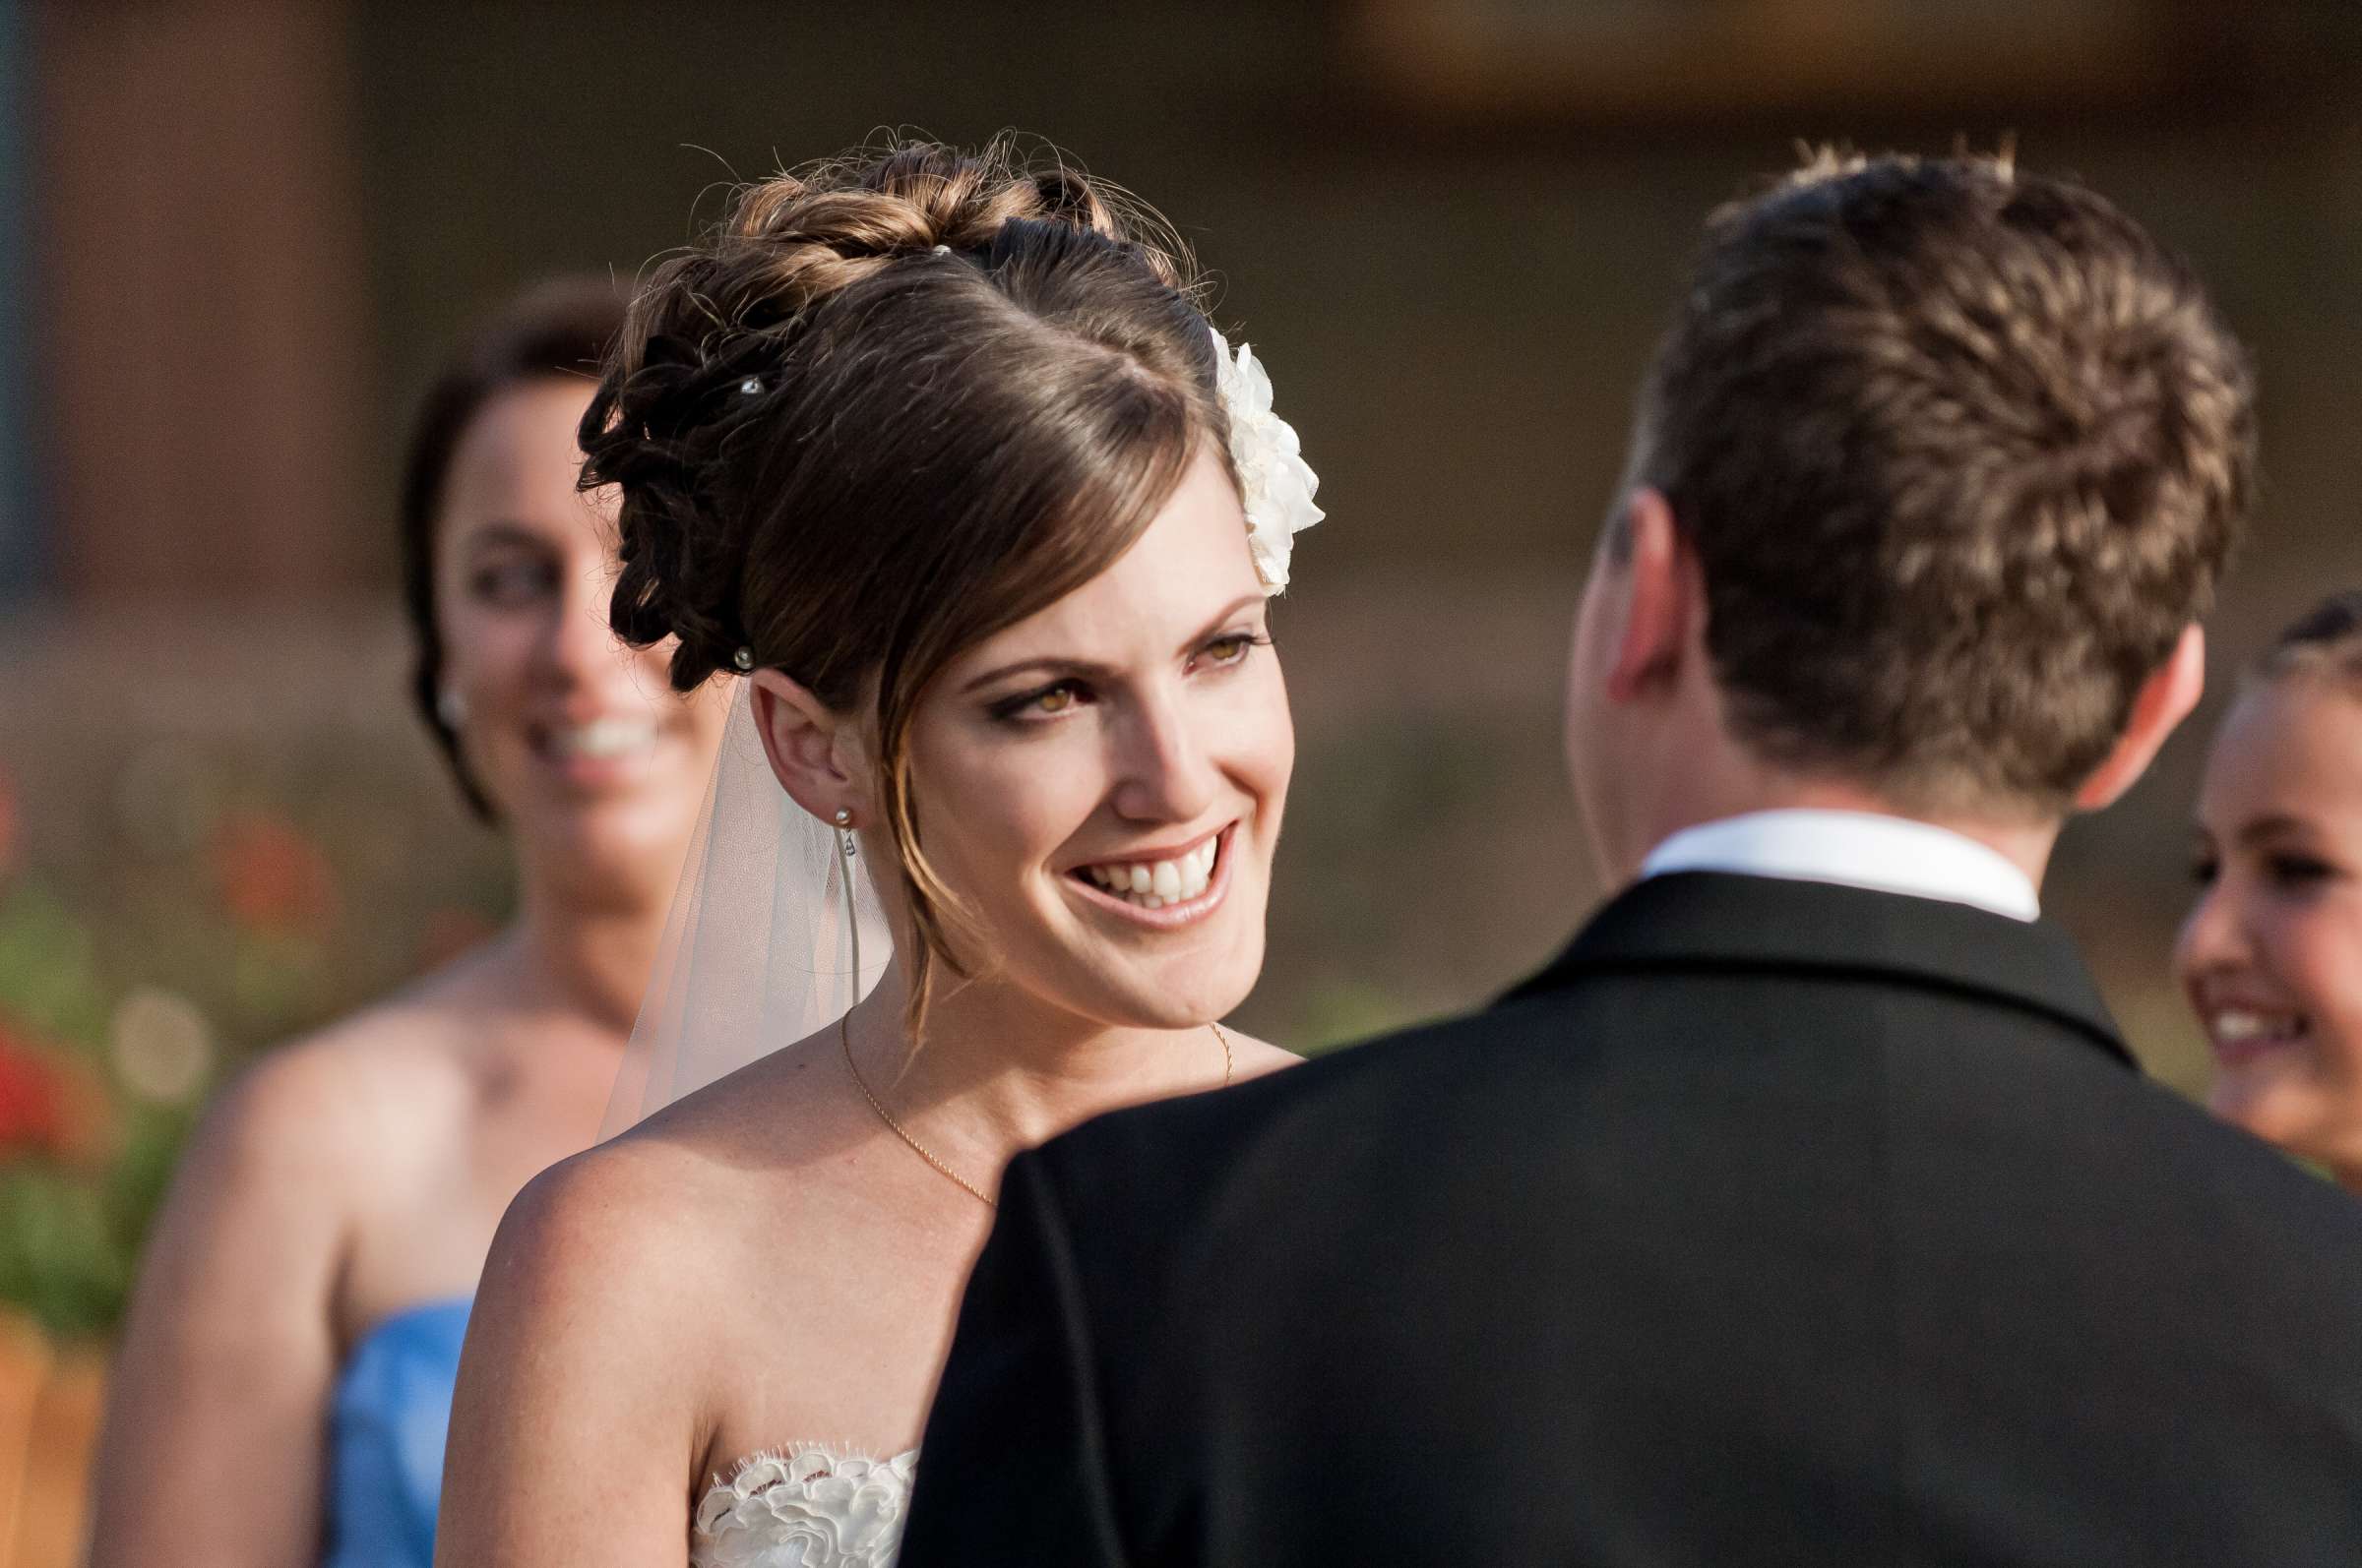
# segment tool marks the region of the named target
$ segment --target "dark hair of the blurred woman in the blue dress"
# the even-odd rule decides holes
[[[402,609],[411,623],[411,704],[451,765],[451,779],[482,822],[491,798],[468,770],[458,732],[444,723],[444,647],[435,621],[435,545],[442,534],[451,458],[484,406],[541,380],[590,383],[624,331],[624,295],[607,279],[562,276],[517,295],[475,326],[418,404],[402,463]]]

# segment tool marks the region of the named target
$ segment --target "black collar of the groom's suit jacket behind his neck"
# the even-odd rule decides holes
[[[1585,975],[1639,971],[1861,975],[2043,1013],[2123,1065],[2123,1046],[2067,935],[1932,897],[1833,883],[1682,871],[1635,883],[1502,1001]]]

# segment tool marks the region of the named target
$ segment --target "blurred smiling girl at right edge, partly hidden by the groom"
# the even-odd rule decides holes
[[[2362,593],[2284,631],[2206,760],[2175,963],[2213,1112],[2362,1193]]]

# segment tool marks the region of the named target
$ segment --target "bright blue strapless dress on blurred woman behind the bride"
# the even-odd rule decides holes
[[[432,1568],[451,1384],[470,1306],[413,1306],[352,1346],[328,1419],[324,1568]]]

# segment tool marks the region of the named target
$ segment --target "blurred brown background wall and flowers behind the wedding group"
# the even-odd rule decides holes
[[[2192,255],[2263,371],[2216,697],[2050,909],[2149,1065],[2230,673],[2362,583],[2362,7],[2251,0],[0,0],[0,1568],[71,1561],[194,1108],[505,912],[404,701],[394,463],[463,324],[723,189],[1013,125],[1162,208],[1320,470],[1301,760],[1240,1023],[1464,1008],[1597,900],[1568,616],[1710,205],[1797,142],[2015,142]]]

